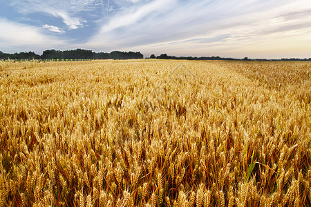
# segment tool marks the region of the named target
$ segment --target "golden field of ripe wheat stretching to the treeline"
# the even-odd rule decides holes
[[[310,206],[310,145],[310,61],[0,61],[0,206]]]

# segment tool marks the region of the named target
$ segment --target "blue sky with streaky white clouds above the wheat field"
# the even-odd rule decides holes
[[[310,0],[0,0],[0,51],[311,57]]]

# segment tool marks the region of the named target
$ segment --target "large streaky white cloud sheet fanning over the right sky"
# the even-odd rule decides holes
[[[308,0],[150,1],[122,8],[87,45],[97,50],[104,46],[108,50],[227,57],[243,57],[252,50],[263,57],[265,51],[278,47],[282,48],[280,54],[299,47],[307,51],[311,46],[303,42],[310,42],[310,11]]]

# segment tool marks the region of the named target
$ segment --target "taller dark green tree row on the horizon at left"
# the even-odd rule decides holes
[[[14,54],[0,51],[0,59],[143,59],[140,52],[93,52],[92,50],[44,50],[42,55],[35,52],[15,52]]]

